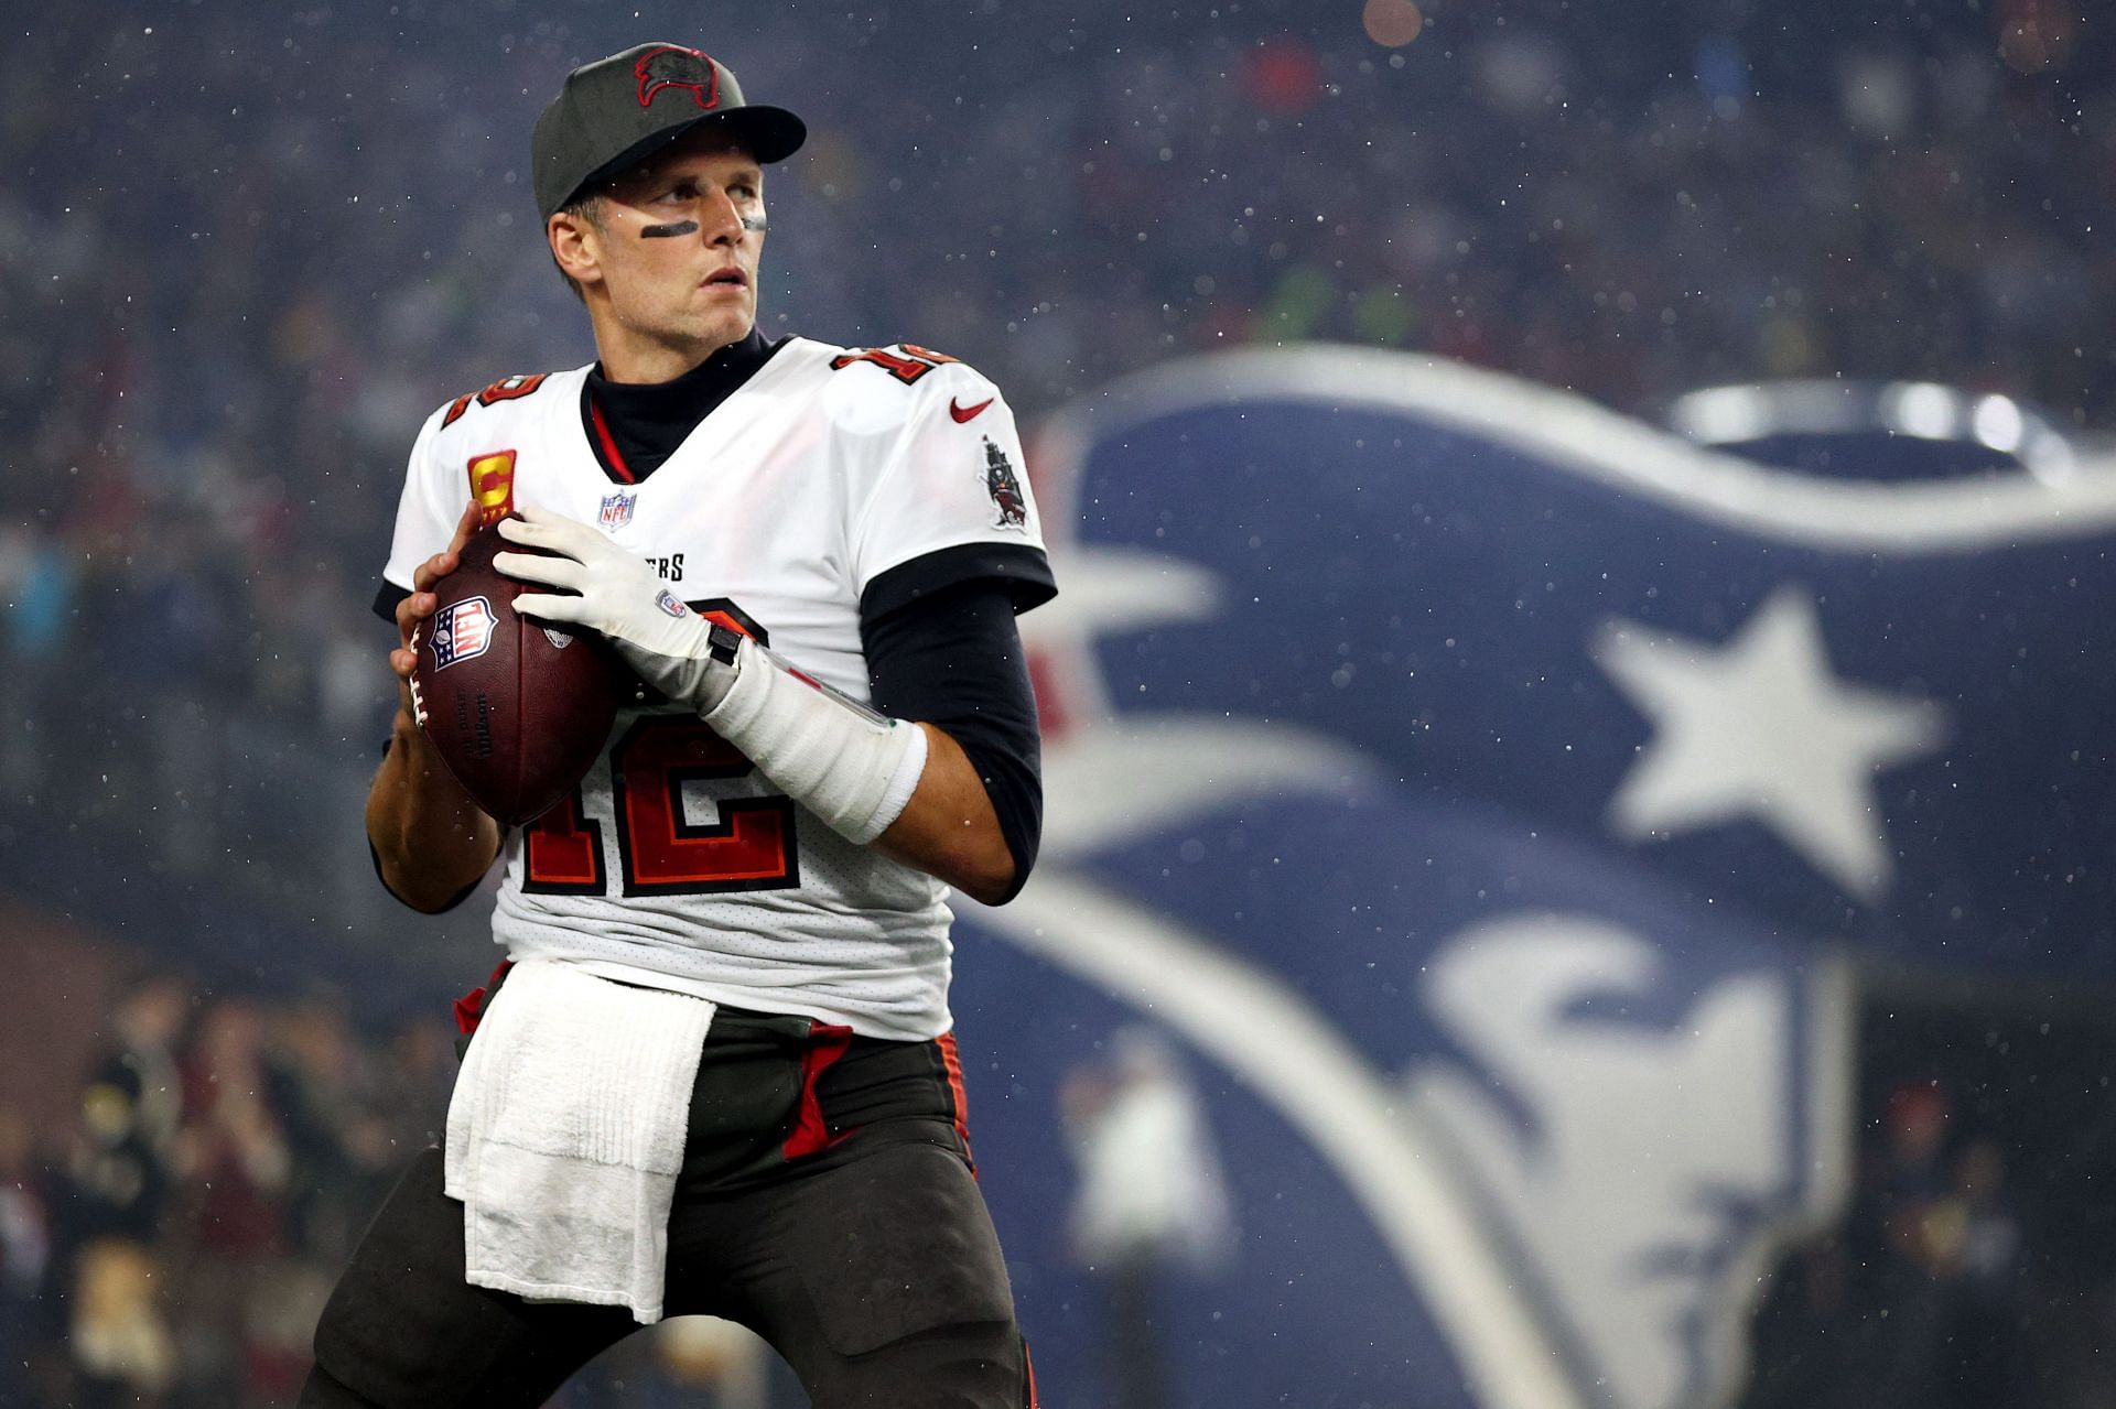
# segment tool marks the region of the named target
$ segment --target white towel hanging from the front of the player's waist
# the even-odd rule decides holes
[[[669,1204],[713,1005],[531,958],[478,1022],[449,1100],[466,1280],[662,1316]]]

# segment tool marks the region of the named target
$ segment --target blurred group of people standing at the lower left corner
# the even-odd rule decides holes
[[[353,1238],[436,1140],[446,1022],[364,1035],[148,971],[66,1121],[0,1109],[0,1405],[292,1403]]]

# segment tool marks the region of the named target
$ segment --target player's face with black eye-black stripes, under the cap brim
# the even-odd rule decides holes
[[[609,298],[614,326],[599,319],[605,341],[656,362],[677,353],[696,364],[749,334],[764,252],[764,171],[747,150],[698,129],[612,182],[601,216],[599,228],[580,222],[580,250],[590,258],[582,281]],[[635,362],[622,349],[603,351],[605,362],[612,353]],[[622,379],[616,368],[612,374]]]

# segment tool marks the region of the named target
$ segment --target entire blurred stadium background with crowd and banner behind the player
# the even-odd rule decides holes
[[[440,1126],[368,601],[419,419],[592,355],[527,135],[643,38],[810,123],[768,330],[1043,427],[956,1015],[1052,1409],[2116,1405],[2084,0],[15,6],[0,1405],[290,1403]]]

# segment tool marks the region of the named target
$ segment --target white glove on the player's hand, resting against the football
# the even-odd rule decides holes
[[[499,520],[499,537],[544,550],[493,554],[501,573],[578,592],[523,592],[516,611],[601,633],[639,679],[700,715],[728,698],[738,666],[711,654],[713,624],[601,529],[525,504],[521,518]]]

